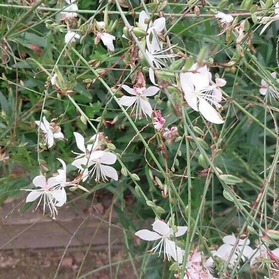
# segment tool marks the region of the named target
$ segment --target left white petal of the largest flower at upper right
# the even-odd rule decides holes
[[[191,73],[181,73],[180,74],[180,84],[184,93],[184,99],[187,104],[196,112],[198,111],[198,98],[194,93],[194,85],[190,79]]]

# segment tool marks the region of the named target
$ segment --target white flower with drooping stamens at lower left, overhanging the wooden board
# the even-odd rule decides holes
[[[55,219],[57,215],[56,207],[61,207],[67,199],[65,186],[74,185],[71,182],[66,182],[66,165],[63,160],[57,158],[63,166],[63,169],[58,169],[58,175],[50,177],[48,181],[44,175],[38,175],[33,179],[33,184],[39,189],[23,189],[30,191],[26,198],[26,202],[33,202],[40,198],[36,209],[43,200],[44,214],[46,207],[49,207],[51,216]]]

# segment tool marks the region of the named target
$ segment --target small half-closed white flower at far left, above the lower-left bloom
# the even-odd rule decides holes
[[[61,132],[61,128],[57,125],[52,125],[47,119],[46,116],[43,117],[43,121],[36,120],[36,125],[40,126],[40,130],[45,133],[44,143],[51,148],[54,145],[54,139],[64,139],[64,135]]]

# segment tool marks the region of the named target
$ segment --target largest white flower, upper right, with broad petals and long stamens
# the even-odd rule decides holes
[[[216,96],[216,88],[221,84],[210,85],[210,75],[206,65],[199,67],[193,64],[189,72],[180,74],[180,83],[184,93],[184,98],[188,105],[195,111],[200,112],[206,120],[222,124],[224,121],[219,113],[213,108],[220,107],[218,101],[220,96]]]

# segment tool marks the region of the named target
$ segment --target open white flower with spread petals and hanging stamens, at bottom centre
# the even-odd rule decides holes
[[[152,228],[154,231],[150,231],[148,229],[141,229],[135,233],[138,237],[147,241],[154,241],[160,239],[159,243],[151,249],[154,253],[159,249],[159,256],[162,251],[162,247],[164,246],[164,257],[167,260],[170,260],[172,257],[178,263],[182,263],[182,249],[175,245],[175,242],[169,240],[170,235],[180,236],[183,235],[187,231],[187,226],[177,226],[177,232],[173,232],[173,230],[169,227],[168,224],[161,220],[156,220],[152,224]],[[177,257],[176,257],[177,254]]]

